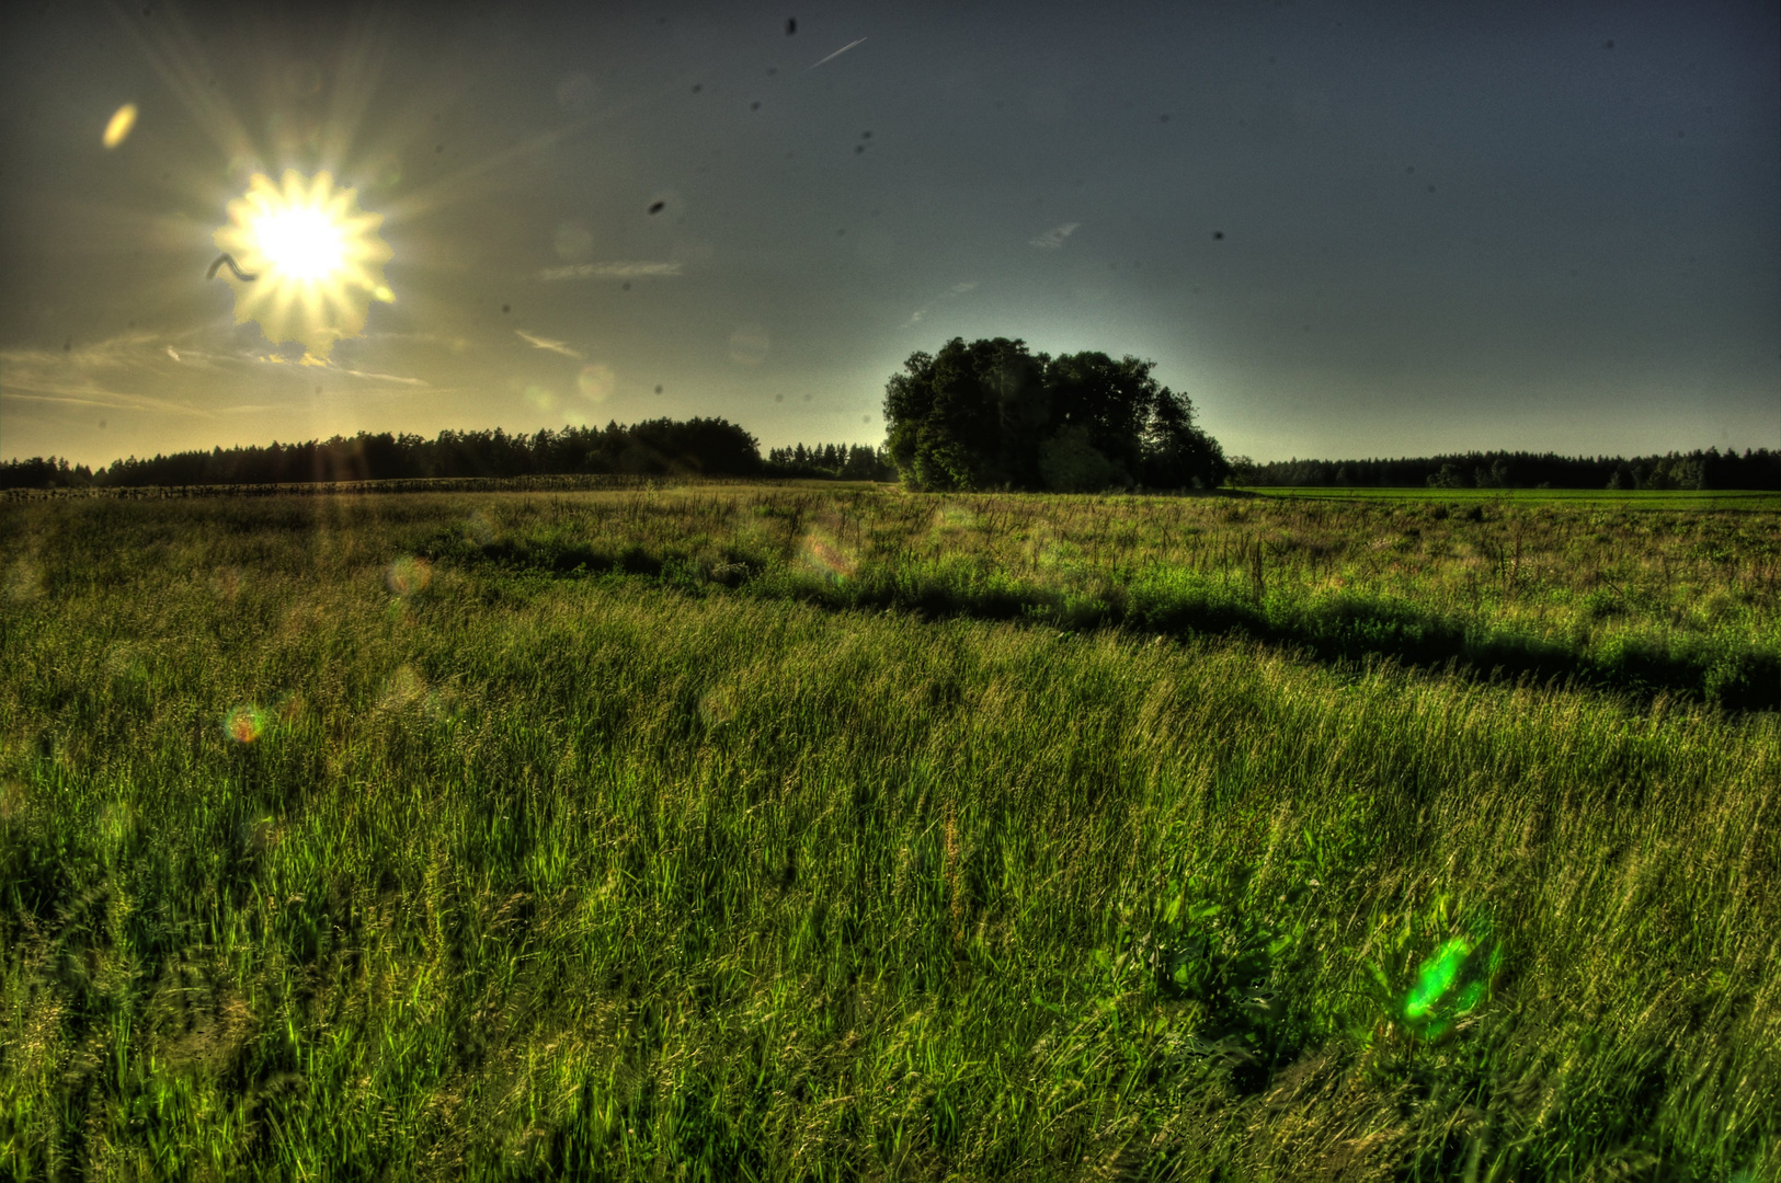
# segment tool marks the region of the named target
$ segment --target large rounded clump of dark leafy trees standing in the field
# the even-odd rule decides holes
[[[1152,363],[1031,354],[1021,340],[953,338],[885,384],[889,452],[917,489],[1213,487],[1229,473],[1193,404]]]

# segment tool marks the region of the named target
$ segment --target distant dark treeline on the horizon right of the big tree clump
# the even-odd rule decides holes
[[[1375,461],[1231,461],[1247,486],[1432,489],[1781,489],[1781,452],[1769,448],[1671,452],[1667,455],[1555,455],[1468,452]]]

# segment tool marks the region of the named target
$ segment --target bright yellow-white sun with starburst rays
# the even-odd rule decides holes
[[[258,276],[228,281],[235,324],[256,320],[271,342],[301,342],[305,361],[326,361],[335,342],[363,333],[370,301],[395,299],[383,281],[383,215],[360,210],[358,190],[335,189],[333,174],[287,169],[274,185],[255,173],[228,213],[216,244]]]

